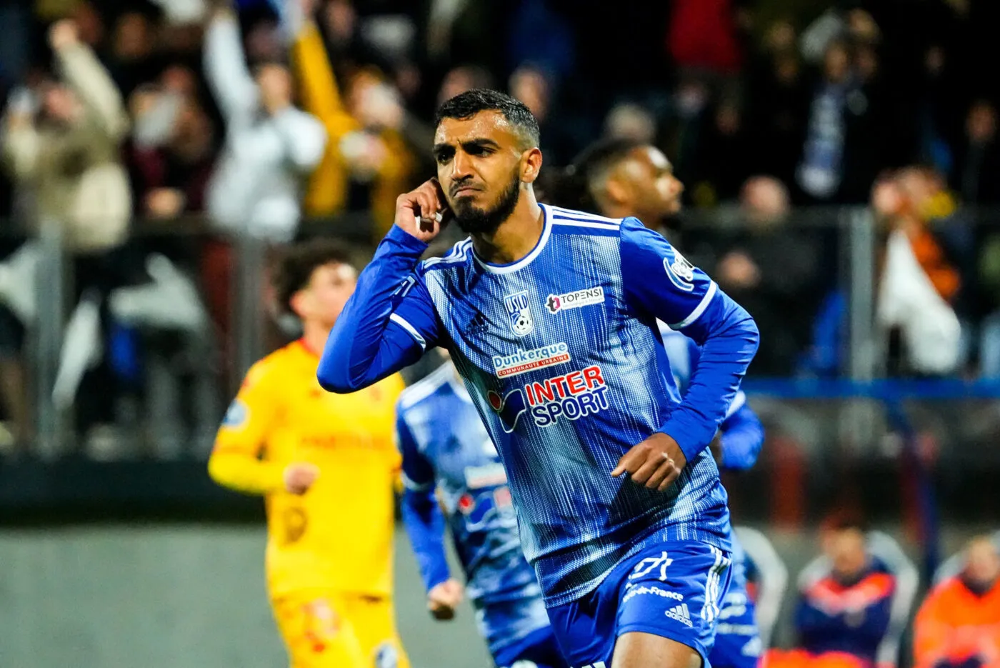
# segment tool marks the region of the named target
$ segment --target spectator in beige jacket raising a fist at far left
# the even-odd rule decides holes
[[[126,270],[123,258],[113,252],[125,240],[131,214],[120,161],[129,121],[114,82],[72,20],[51,27],[49,45],[58,78],[19,93],[8,109],[3,152],[19,189],[32,194],[34,225],[60,227],[63,247],[74,260],[77,297],[92,295],[81,299],[67,326],[54,391],[58,404],[59,397],[72,400],[80,382],[102,387],[78,397],[78,426],[90,431],[110,424],[114,414],[116,383],[107,356],[101,360],[100,321],[84,314],[98,310],[95,304]],[[24,291],[23,283],[8,282],[7,287],[7,292]],[[14,303],[12,295],[6,301]]]

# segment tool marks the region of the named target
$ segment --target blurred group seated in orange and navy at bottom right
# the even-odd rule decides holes
[[[819,534],[820,555],[796,578],[791,634],[780,643],[788,648],[766,648],[761,665],[1000,665],[1000,534],[973,537],[924,582],[888,534],[843,519],[824,522]],[[783,587],[785,572],[750,537],[750,596],[767,605],[768,587]]]

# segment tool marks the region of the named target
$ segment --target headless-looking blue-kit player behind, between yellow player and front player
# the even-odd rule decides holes
[[[453,364],[403,392],[396,428],[406,486],[403,523],[431,613],[450,619],[462,598],[445,559],[447,523],[496,665],[566,668],[542,591],[521,552],[507,475]]]

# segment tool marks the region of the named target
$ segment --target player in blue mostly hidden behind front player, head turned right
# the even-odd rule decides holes
[[[627,139],[592,144],[565,170],[553,197],[557,203],[599,211],[614,218],[634,216],[653,228],[664,226],[681,208],[683,184],[670,161],[655,146]],[[701,350],[690,338],[658,322],[670,370],[681,396],[687,392]],[[722,469],[746,470],[757,461],[764,429],[740,390],[730,404],[710,448]],[[733,578],[719,613],[714,668],[753,668],[763,646],[747,593],[746,558],[735,536]]]

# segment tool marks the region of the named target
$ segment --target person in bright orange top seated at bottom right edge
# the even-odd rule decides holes
[[[1000,554],[989,537],[970,541],[962,572],[920,606],[913,658],[917,668],[1000,666]]]

